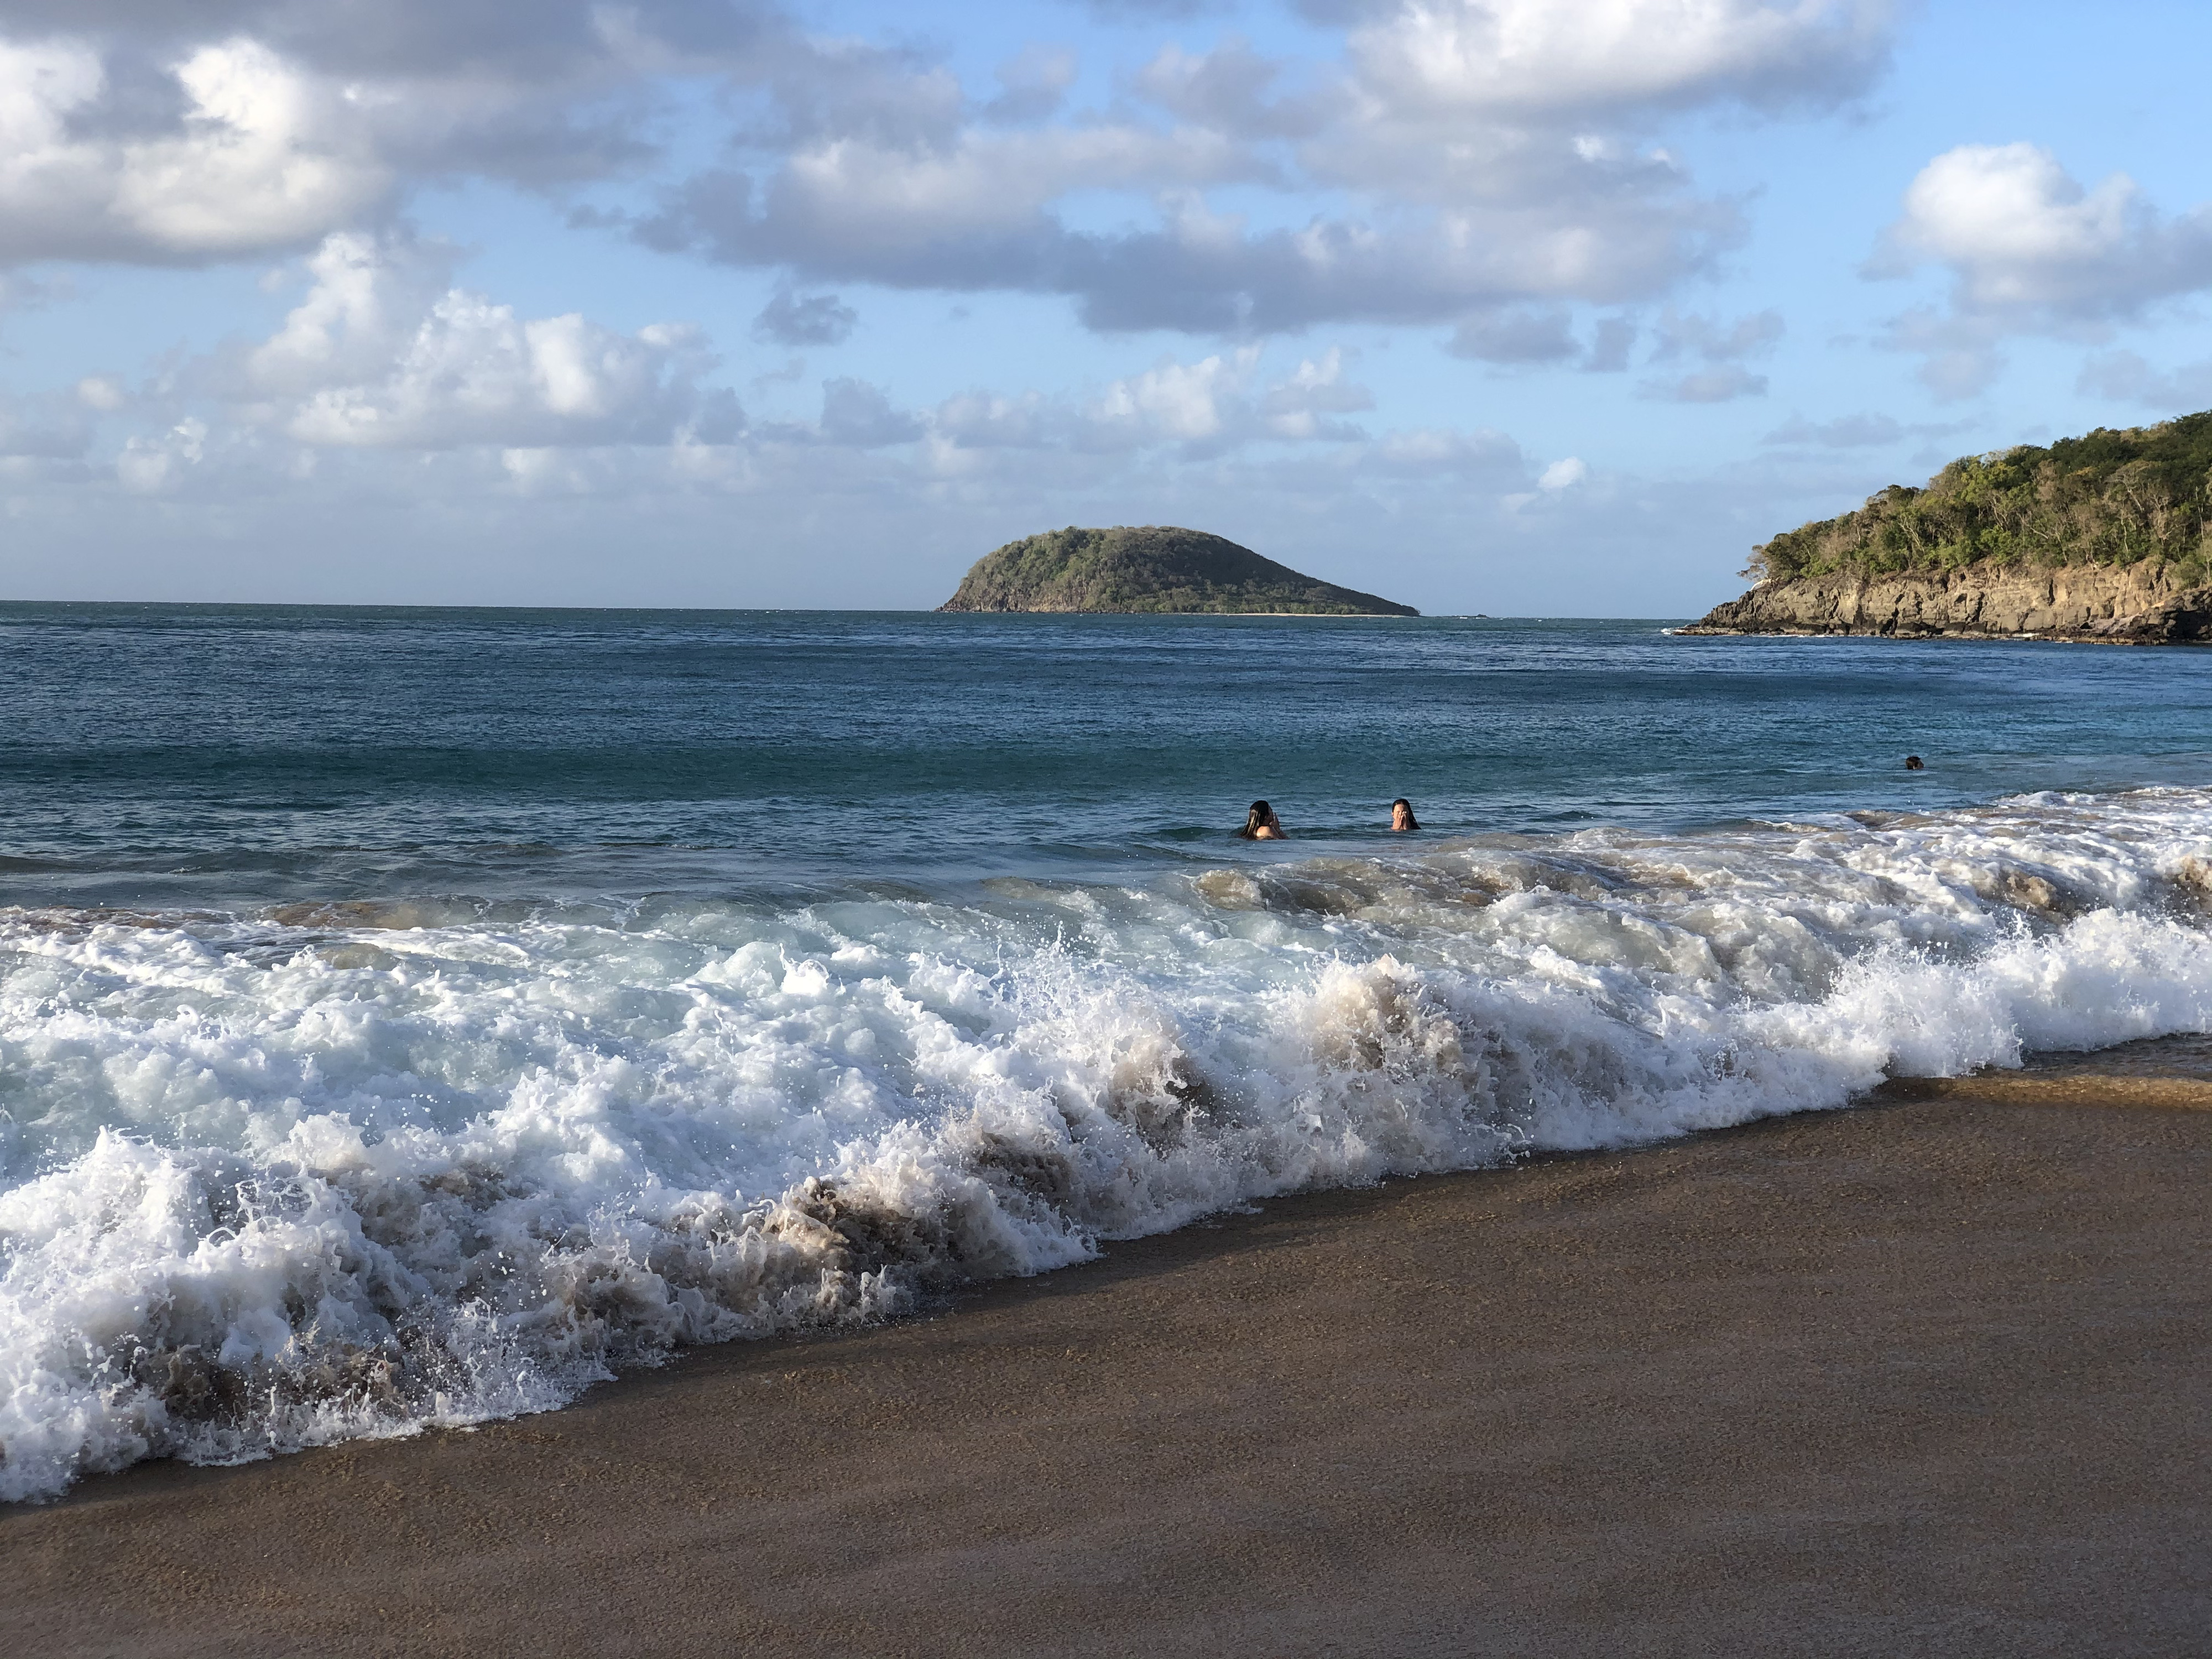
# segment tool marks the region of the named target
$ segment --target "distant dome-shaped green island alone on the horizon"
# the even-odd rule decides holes
[[[1263,560],[1221,535],[1168,524],[1026,535],[975,560],[938,611],[1276,613],[1418,617],[1407,604],[1340,588]]]

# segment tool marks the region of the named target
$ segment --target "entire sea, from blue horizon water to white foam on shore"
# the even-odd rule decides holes
[[[0,697],[11,1500],[2212,1029],[2212,653],[0,606]]]

